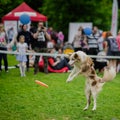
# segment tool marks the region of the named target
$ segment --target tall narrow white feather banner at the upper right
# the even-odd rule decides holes
[[[112,24],[111,24],[111,33],[114,37],[117,35],[117,26],[118,26],[118,2],[113,0],[112,6]]]

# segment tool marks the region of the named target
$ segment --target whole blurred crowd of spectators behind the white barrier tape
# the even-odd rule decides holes
[[[114,47],[116,44],[116,48]],[[0,50],[18,51],[16,60],[19,62],[21,77],[25,76],[25,71],[34,67],[34,74],[40,70],[48,72],[68,72],[72,68],[69,66],[69,59],[57,56],[57,54],[68,54],[76,51],[83,51],[88,55],[96,56],[120,56],[120,31],[117,36],[113,36],[110,31],[99,30],[93,26],[92,32],[86,34],[84,28],[79,26],[74,35],[72,43],[65,40],[62,31],[56,31],[52,27],[46,28],[42,21],[37,26],[20,25],[15,34],[13,28],[5,31],[3,24],[0,24]],[[34,56],[25,55],[26,52],[33,53],[52,53],[55,56]],[[0,53],[0,72],[2,72],[2,60],[4,69],[8,72],[7,54]],[[113,66],[117,72],[120,72],[120,59],[110,58],[93,58],[95,69],[102,72],[105,66]]]

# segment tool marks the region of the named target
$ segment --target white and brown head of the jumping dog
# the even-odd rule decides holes
[[[69,59],[70,59],[69,61],[70,65],[81,65],[82,63],[88,60],[88,56],[84,52],[78,51],[72,53]]]

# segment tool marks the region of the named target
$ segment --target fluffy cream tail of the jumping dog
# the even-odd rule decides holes
[[[101,82],[111,81],[116,77],[116,70],[114,67],[105,68],[104,75]]]

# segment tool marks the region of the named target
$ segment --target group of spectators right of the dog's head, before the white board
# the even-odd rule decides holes
[[[120,56],[120,31],[117,36],[113,36],[110,31],[102,31],[94,26],[91,34],[88,35],[80,26],[72,45],[75,51],[82,50],[88,55],[110,56],[107,59],[93,58],[94,67],[99,72],[102,72],[105,66],[113,66],[117,72],[120,71],[119,59],[111,57]]]

